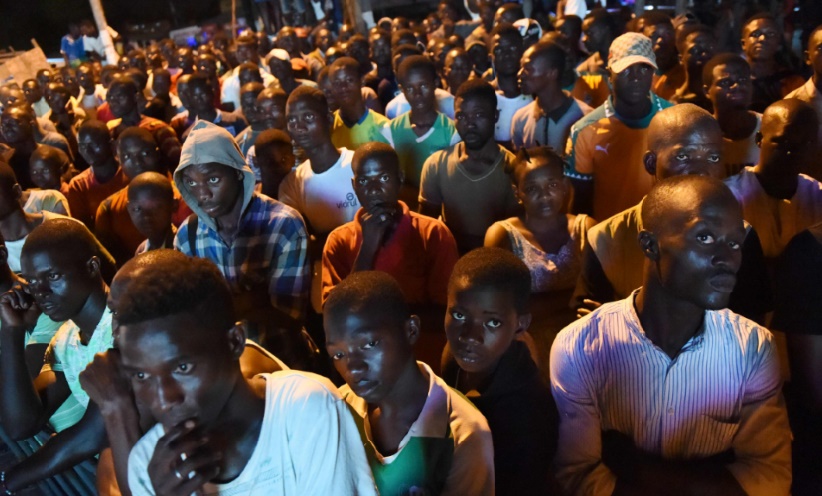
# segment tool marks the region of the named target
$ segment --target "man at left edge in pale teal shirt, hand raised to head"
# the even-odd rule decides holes
[[[96,353],[113,346],[107,287],[101,275],[99,244],[82,223],[52,219],[29,234],[23,247],[26,284],[0,298],[0,418],[13,439],[34,436],[68,398],[85,410],[59,434],[38,435],[47,441],[34,455],[3,472],[0,489],[20,491],[78,464],[94,472],[91,457],[106,444],[104,424],[80,385],[79,374]],[[45,355],[45,365],[32,380],[25,360],[25,335],[40,312],[66,321]],[[81,470],[78,468],[78,470]]]

